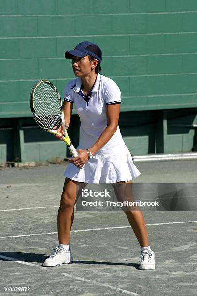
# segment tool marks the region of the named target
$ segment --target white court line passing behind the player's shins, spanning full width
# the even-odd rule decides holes
[[[169,224],[183,224],[183,223],[195,223],[196,221],[182,221],[182,222],[167,222],[167,223],[154,223],[154,224],[146,224],[146,226],[157,226],[157,225],[169,225]],[[131,226],[116,226],[116,227],[104,227],[104,228],[90,228],[90,229],[80,229],[80,230],[71,230],[71,232],[84,232],[84,231],[95,231],[95,230],[107,230],[107,229],[119,229],[119,228],[130,228]],[[30,236],[42,236],[42,235],[50,235],[57,234],[57,232],[46,232],[46,233],[32,233],[26,235],[17,235],[17,236],[6,236],[0,238],[10,238],[10,237],[30,237]]]

